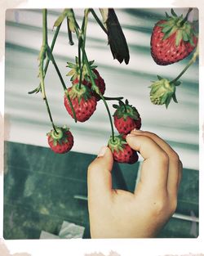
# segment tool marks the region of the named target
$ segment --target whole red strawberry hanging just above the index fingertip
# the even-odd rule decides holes
[[[113,107],[117,109],[113,114],[113,118],[114,125],[119,133],[127,134],[134,128],[141,128],[140,114],[135,109],[135,106],[129,105],[126,100],[125,104],[119,101],[119,106],[113,105]]]

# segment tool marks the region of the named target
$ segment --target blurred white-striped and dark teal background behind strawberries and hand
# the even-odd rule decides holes
[[[48,10],[48,40],[55,33],[55,20],[63,10]],[[82,24],[83,10],[74,10]],[[95,10],[100,16],[100,12]],[[159,237],[198,236],[198,61],[182,76],[176,88],[178,104],[154,106],[149,100],[149,86],[157,74],[174,79],[191,56],[169,66],[157,65],[150,55],[153,26],[170,9],[116,9],[118,20],[130,51],[130,62],[113,60],[107,36],[89,16],[86,53],[95,60],[106,83],[105,96],[124,97],[142,118],[142,129],[157,133],[180,155],[184,165],[179,203],[175,215]],[[188,9],[175,9],[180,15]],[[198,19],[193,10],[193,20]],[[69,38],[64,21],[54,48],[55,61],[66,85],[67,61],[78,55],[78,43]],[[109,117],[102,101],[86,123],[75,124],[64,108],[63,88],[53,65],[46,76],[47,99],[55,124],[68,125],[74,146],[66,155],[55,155],[47,147],[51,124],[40,93],[28,92],[38,87],[38,53],[42,45],[42,10],[7,10],[6,81],[5,81],[5,176],[4,238],[89,238],[86,169],[111,133]],[[112,104],[109,107],[113,113]],[[142,159],[140,159],[141,161]],[[140,174],[140,161],[134,165],[115,164],[113,186],[134,191]],[[77,235],[76,235],[77,234]]]

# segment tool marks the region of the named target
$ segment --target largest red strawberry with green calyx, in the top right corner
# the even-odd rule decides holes
[[[188,13],[190,10],[188,11]],[[170,65],[183,60],[197,46],[197,35],[188,14],[178,17],[171,9],[172,16],[159,20],[151,36],[151,54],[158,65]]]

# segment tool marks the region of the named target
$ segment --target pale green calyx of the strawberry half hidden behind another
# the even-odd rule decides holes
[[[75,64],[71,63],[71,62],[67,62],[67,67],[69,67],[71,70],[69,71],[68,74],[66,74],[67,76],[71,76],[71,81],[75,81],[76,79],[80,79],[80,74],[81,74],[81,70],[80,70],[80,66],[79,66],[79,61],[78,61],[78,57],[75,57]],[[93,70],[95,70],[95,68],[97,67],[96,65],[93,65],[94,61],[89,61],[89,65],[91,68],[91,74],[93,79],[97,79],[97,75],[95,74],[95,72]],[[82,81],[85,79],[88,82],[91,82],[88,70],[86,68],[86,65],[82,65]],[[82,82],[83,83],[83,82]]]

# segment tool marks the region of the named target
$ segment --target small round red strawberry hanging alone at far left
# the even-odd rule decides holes
[[[47,141],[51,150],[55,153],[64,154],[73,147],[73,135],[69,131],[69,128],[64,126],[63,128],[56,127],[55,130],[47,133]]]

